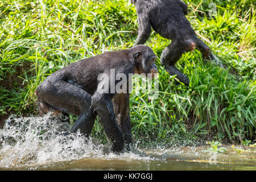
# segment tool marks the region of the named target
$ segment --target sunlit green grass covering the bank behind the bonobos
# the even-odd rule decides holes
[[[204,63],[199,51],[185,53],[177,67],[191,84],[178,84],[159,63],[171,40],[152,31],[146,44],[158,55],[159,97],[131,94],[134,139],[255,139],[254,1],[212,1],[216,16],[208,1],[185,2],[192,27],[227,69]],[[37,114],[34,91],[44,78],[82,58],[132,47],[137,28],[128,0],[0,0],[0,117]],[[97,123],[93,135],[104,138]]]

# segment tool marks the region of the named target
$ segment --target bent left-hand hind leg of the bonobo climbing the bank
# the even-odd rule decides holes
[[[179,69],[174,65],[184,52],[185,51],[177,46],[175,42],[172,42],[169,46],[164,48],[161,55],[161,63],[170,75],[177,75],[176,78],[188,86],[189,78],[179,71]]]

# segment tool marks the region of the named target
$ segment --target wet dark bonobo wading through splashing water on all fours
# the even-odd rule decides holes
[[[129,150],[129,144],[132,143],[129,92],[112,92],[112,84],[115,86],[119,81],[111,77],[110,73],[114,69],[115,76],[121,73],[126,78],[131,73],[157,73],[155,59],[156,55],[150,47],[138,45],[69,64],[49,75],[36,89],[39,114],[48,111],[76,114],[79,117],[71,132],[80,129],[86,136],[92,131],[94,119],[98,115],[106,136],[112,142],[112,151],[119,152],[125,145]],[[110,79],[105,79],[102,84],[104,79],[98,79],[100,74],[108,75]],[[128,83],[125,82],[127,89]],[[109,90],[103,88],[102,92],[102,85],[109,85],[106,86]]]

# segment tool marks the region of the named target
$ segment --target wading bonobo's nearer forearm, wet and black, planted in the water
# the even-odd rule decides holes
[[[115,119],[110,94],[94,93],[92,96],[92,105],[94,111],[98,114],[99,122],[104,128],[106,136],[112,142],[112,151],[122,151],[124,136]]]

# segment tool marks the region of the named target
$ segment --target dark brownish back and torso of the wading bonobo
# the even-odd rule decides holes
[[[63,80],[84,89],[89,94],[93,94],[97,89],[99,74],[109,74],[110,69],[115,69],[118,72],[134,72],[133,65],[128,59],[128,52],[127,49],[110,51],[82,59],[52,73],[44,82],[50,81],[54,84]]]

